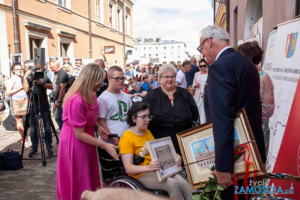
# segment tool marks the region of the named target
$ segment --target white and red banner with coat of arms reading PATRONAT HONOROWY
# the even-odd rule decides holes
[[[271,76],[274,83],[275,99],[274,115],[269,119],[270,144],[266,169],[267,172],[300,176],[300,44],[297,40],[300,19],[277,26],[276,34],[274,32],[269,36],[263,65],[263,70]],[[274,56],[271,58],[273,51]],[[271,185],[277,188],[280,186],[283,191],[300,187],[297,182],[279,180],[270,180]],[[297,199],[300,190],[294,190],[294,194],[279,196]]]

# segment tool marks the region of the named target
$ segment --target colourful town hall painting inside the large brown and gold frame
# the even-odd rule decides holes
[[[240,135],[237,127],[234,128],[234,148],[240,145]],[[198,175],[210,172],[211,166],[215,163],[214,136],[209,135],[189,142],[190,150],[193,154],[193,162]],[[241,157],[235,164],[241,163]]]

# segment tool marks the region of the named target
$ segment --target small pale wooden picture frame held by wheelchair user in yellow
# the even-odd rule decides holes
[[[177,157],[171,137],[150,140],[146,142],[152,160],[158,160],[159,169],[156,174],[162,181],[182,170],[177,166]],[[160,155],[161,154],[161,155]],[[164,169],[165,168],[165,169]]]

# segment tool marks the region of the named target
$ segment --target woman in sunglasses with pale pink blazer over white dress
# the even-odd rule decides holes
[[[194,80],[193,80],[193,88],[196,90],[194,95],[194,100],[197,104],[200,122],[201,124],[206,122],[205,119],[205,112],[204,112],[204,104],[203,104],[203,94],[204,94],[204,87],[207,80],[207,63],[204,58],[202,58],[199,63],[197,64],[199,67],[199,72],[195,73]]]

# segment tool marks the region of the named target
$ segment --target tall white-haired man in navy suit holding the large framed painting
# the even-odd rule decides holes
[[[234,199],[231,173],[234,168],[233,144],[235,112],[245,109],[263,163],[266,161],[262,134],[260,81],[255,65],[229,46],[229,34],[222,28],[207,26],[200,32],[199,52],[211,66],[204,89],[206,120],[212,121],[216,175],[224,191],[221,199]],[[238,181],[241,186],[243,180]],[[227,196],[226,196],[227,195]],[[238,199],[245,199],[241,194]]]

